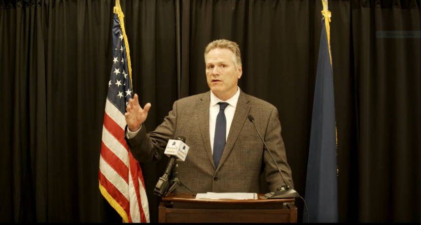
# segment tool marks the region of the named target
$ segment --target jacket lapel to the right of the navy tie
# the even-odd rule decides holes
[[[247,98],[245,93],[240,90],[240,96],[238,97],[237,106],[235,107],[234,118],[232,118],[232,123],[229,130],[227,143],[225,144],[225,148],[222,153],[221,161],[219,162],[218,168],[220,168],[221,165],[224,164],[226,158],[228,157],[229,153],[232,150],[232,147],[234,147],[234,144],[235,144],[235,141],[237,140],[238,135],[241,132],[241,128],[250,111],[250,105],[248,103],[249,103],[249,99]],[[209,118],[209,115],[207,115],[207,118]],[[207,119],[207,130],[208,130],[207,133],[209,133],[209,119]],[[207,139],[209,140],[209,135],[207,135]],[[211,154],[211,158],[213,162],[212,154]],[[214,164],[214,167],[215,167],[215,164]]]

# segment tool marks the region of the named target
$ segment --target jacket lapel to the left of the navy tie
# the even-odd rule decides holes
[[[203,93],[197,100],[197,121],[200,127],[200,133],[203,139],[204,150],[212,166],[215,168],[214,157],[211,149],[211,138],[209,138],[209,104],[211,104],[211,92]]]

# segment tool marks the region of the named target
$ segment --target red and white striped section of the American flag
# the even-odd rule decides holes
[[[107,99],[99,159],[99,188],[124,222],[150,222],[142,169],[124,139],[124,114]]]

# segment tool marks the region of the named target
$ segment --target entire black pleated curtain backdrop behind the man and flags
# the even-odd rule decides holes
[[[114,5],[0,0],[0,221],[122,221],[98,188]],[[141,105],[152,103],[147,127],[159,125],[173,101],[208,90],[205,45],[233,40],[242,53],[239,86],[277,107],[304,197],[321,1],[121,5],[133,90]],[[419,6],[329,1],[341,222],[420,221]],[[141,164],[152,222],[159,201],[153,188],[165,165],[165,157]],[[296,204],[302,221],[303,203]]]

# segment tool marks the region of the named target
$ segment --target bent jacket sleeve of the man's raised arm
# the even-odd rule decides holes
[[[133,138],[126,141],[133,157],[141,163],[156,162],[164,154],[168,139],[174,138],[177,123],[177,101],[172,105],[172,110],[164,121],[156,127],[155,131],[147,133],[145,124]],[[126,125],[127,130],[127,125]],[[127,131],[126,131],[127,132]]]

